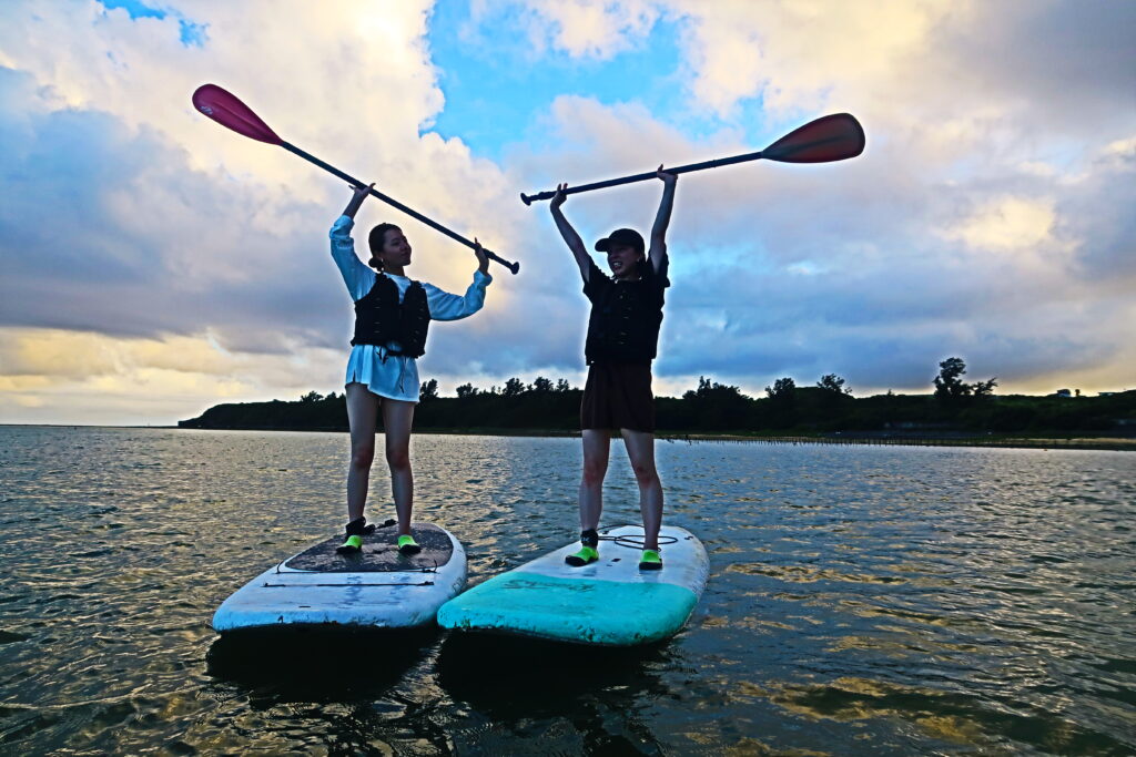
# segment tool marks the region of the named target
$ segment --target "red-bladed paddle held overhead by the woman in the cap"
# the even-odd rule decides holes
[[[719,158],[707,160],[701,163],[691,163],[677,168],[668,168],[668,174],[688,174],[707,168],[719,166],[732,166],[744,163],[749,160],[776,160],[783,163],[828,163],[835,160],[847,160],[855,158],[863,152],[863,127],[850,113],[835,113],[824,116],[815,121],[794,129],[759,152],[747,152],[744,155],[732,158]],[[623,178],[608,179],[607,182],[595,182],[594,184],[582,184],[565,190],[565,194],[576,194],[578,192],[591,192],[620,184],[632,184],[634,182],[646,182],[655,178],[655,171],[646,174],[635,174]],[[556,192],[541,192],[540,194],[520,194],[520,200],[526,205],[534,200],[551,200]]]

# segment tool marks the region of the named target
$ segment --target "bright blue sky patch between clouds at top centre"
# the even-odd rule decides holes
[[[640,103],[695,143],[734,129],[749,150],[760,150],[819,115],[771,119],[760,82],[757,94],[725,117],[698,106],[683,70],[684,23],[661,19],[632,49],[598,60],[551,49],[538,53],[515,6],[493,7],[475,24],[468,3],[438,3],[427,42],[445,107],[431,129],[445,138],[459,137],[474,154],[500,162],[510,144],[549,140],[542,119],[559,95],[576,94],[604,106]],[[675,155],[674,162],[709,157],[719,155]]]

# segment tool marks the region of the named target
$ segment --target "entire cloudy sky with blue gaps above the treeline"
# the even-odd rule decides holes
[[[6,0],[0,422],[172,423],[342,390],[350,192],[197,113],[212,82],[289,142],[466,236],[485,310],[436,325],[443,393],[583,377],[586,301],[518,193],[761,149],[829,112],[855,160],[679,179],[657,389],[836,372],[922,393],[1136,388],[1136,3],[1113,0]],[[570,197],[588,243],[657,182]],[[468,250],[400,222],[411,275]],[[364,251],[365,234],[357,234]],[[601,261],[602,262],[602,261]]]

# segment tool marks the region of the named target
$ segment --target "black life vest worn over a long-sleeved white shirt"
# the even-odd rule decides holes
[[[374,344],[398,348],[392,355],[421,358],[426,352],[426,333],[429,330],[429,303],[426,289],[419,281],[411,281],[399,302],[399,285],[384,274],[375,278],[370,292],[356,301],[356,333],[352,345]]]

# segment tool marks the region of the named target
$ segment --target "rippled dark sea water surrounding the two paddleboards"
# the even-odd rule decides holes
[[[228,594],[342,528],[346,446],[0,427],[0,750],[1136,752],[1130,453],[660,443],[668,519],[711,556],[667,644],[219,641]],[[612,452],[604,522],[634,521]],[[412,456],[471,582],[576,536],[576,439]]]

